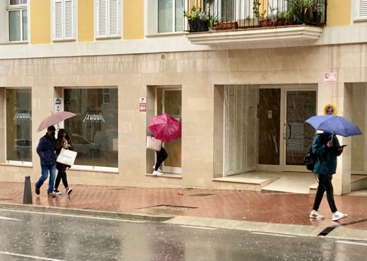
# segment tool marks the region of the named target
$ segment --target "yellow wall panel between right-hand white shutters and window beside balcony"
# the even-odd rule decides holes
[[[144,0],[124,1],[124,39],[143,39],[144,37]]]

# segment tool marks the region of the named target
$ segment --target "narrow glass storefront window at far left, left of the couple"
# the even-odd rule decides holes
[[[6,160],[32,161],[30,89],[6,89]]]

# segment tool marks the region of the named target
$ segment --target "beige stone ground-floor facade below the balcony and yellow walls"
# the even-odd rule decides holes
[[[282,28],[233,42],[197,42],[200,34],[181,32],[0,45],[0,180],[37,180],[36,147],[45,132],[37,128],[57,105],[77,113],[64,122],[72,140],[80,139],[71,184],[260,190],[225,178],[307,172],[303,156],[315,131],[304,120],[325,105],[367,130],[367,23],[316,33],[294,28],[318,36],[301,32],[289,40],[279,36]],[[164,145],[169,158],[157,177],[146,137],[150,119],[163,112],[181,120],[182,137]],[[18,142],[21,132],[28,136]],[[333,183],[342,195],[351,191],[352,175],[367,178],[367,136],[339,141],[347,149]]]

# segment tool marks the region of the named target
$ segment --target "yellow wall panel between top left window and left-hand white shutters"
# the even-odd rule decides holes
[[[49,0],[30,2],[30,43],[51,43],[51,7]]]

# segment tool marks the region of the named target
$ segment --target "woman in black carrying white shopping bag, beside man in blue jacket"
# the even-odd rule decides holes
[[[57,134],[56,158],[57,156],[59,156],[61,149],[73,150],[71,146],[71,139],[65,129],[59,129],[59,133]],[[70,195],[73,190],[71,189],[71,187],[68,187],[68,179],[66,178],[66,169],[70,168],[70,166],[56,162],[56,168],[58,172],[55,180],[54,192],[56,193],[56,195],[62,195],[62,193],[58,190],[60,181],[62,180],[62,183],[64,184],[64,187],[66,189],[66,194]]]

